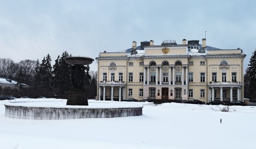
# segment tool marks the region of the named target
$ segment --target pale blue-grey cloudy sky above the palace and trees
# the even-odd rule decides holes
[[[256,49],[255,0],[0,0],[0,58],[54,60],[64,51],[95,59],[136,41],[200,40]],[[96,60],[90,65],[97,70]]]

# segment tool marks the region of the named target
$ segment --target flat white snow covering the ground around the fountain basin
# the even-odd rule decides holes
[[[143,104],[143,115],[24,120],[5,116],[7,102],[0,101],[0,149],[256,148],[256,106],[230,106],[231,112],[220,112],[224,106],[132,102],[127,104]],[[89,100],[89,105],[95,102]]]

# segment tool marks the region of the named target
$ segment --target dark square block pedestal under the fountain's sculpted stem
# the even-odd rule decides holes
[[[82,89],[70,89],[67,94],[67,105],[88,106],[87,91]]]

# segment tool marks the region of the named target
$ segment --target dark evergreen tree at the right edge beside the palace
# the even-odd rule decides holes
[[[250,88],[250,99],[256,99],[256,50],[253,52],[250,58],[250,64],[248,64],[248,74],[250,78],[249,88]]]

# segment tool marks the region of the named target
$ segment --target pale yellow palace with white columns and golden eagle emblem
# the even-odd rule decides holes
[[[241,49],[206,46],[206,39],[144,41],[121,52],[102,52],[98,62],[98,100],[244,100]]]

